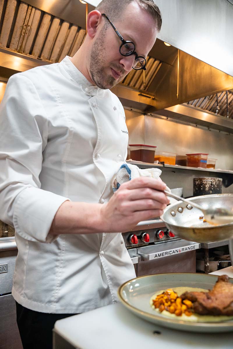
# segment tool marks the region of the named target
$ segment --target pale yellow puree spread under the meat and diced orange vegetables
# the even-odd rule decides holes
[[[197,288],[197,287],[174,287],[172,289],[174,292],[177,293],[178,296],[181,296],[184,292],[208,292],[208,290],[204,288]],[[175,318],[177,320],[183,320],[183,321],[191,321],[191,322],[221,322],[226,320],[233,319],[233,316],[226,316],[226,315],[199,315],[197,313],[193,313],[190,316],[185,315],[184,313],[180,316],[177,316],[175,314],[170,313],[167,310],[163,310],[162,312],[159,311],[158,308],[155,309],[153,305],[153,299],[156,298],[156,296],[161,295],[166,290],[160,290],[157,291],[150,299],[150,305],[151,307],[158,313],[169,317],[169,318]]]

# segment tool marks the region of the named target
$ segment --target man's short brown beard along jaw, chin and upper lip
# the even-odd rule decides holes
[[[104,29],[104,28],[103,28]],[[90,75],[94,83],[101,89],[109,89],[114,87],[117,83],[121,82],[126,73],[122,67],[119,67],[115,63],[110,63],[113,69],[115,68],[118,72],[122,73],[123,76],[120,80],[115,79],[112,75],[104,74],[104,69],[107,68],[104,66],[104,30],[100,33],[99,37],[95,40],[92,46],[92,51],[90,54]]]

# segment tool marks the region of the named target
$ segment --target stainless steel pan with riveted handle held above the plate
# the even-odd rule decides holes
[[[189,200],[197,203],[203,209],[211,205],[213,208],[221,207],[229,211],[233,210],[233,194],[202,195],[189,198]],[[233,238],[233,223],[212,225],[203,222],[203,219],[200,219],[201,216],[203,214],[199,209],[185,202],[177,201],[167,206],[161,219],[168,229],[185,240],[204,243]]]

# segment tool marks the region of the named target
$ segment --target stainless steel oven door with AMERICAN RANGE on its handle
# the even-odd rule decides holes
[[[137,276],[162,273],[196,273],[196,250],[199,243],[176,240],[137,248],[141,260]]]

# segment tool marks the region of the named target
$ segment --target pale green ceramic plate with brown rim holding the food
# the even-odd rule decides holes
[[[122,304],[131,312],[153,322],[181,331],[192,332],[230,332],[233,331],[233,320],[224,322],[186,322],[167,318],[155,312],[150,306],[150,298],[156,291],[174,287],[198,287],[211,289],[218,276],[198,273],[172,273],[139,276],[122,284],[118,289],[118,297]],[[233,279],[230,279],[233,283]]]

